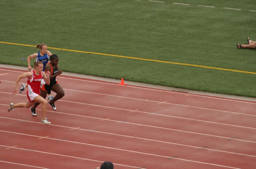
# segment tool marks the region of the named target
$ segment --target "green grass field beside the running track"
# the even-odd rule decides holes
[[[0,41],[98,53],[49,48],[67,72],[256,97],[256,51],[236,48],[236,43],[246,44],[248,36],[256,40],[255,0],[159,1],[165,3],[2,0]],[[6,43],[0,43],[0,51],[0,63],[20,66],[27,66],[22,58],[37,52],[35,47]]]

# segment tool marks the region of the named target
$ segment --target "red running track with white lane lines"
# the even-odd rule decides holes
[[[22,72],[0,67],[0,168],[256,168],[256,102],[61,75],[45,125],[7,112]]]

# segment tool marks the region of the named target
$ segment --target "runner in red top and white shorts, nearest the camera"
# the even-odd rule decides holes
[[[44,65],[42,62],[35,62],[34,67],[35,67],[35,70],[18,76],[16,80],[15,89],[12,92],[12,94],[15,95],[15,93],[17,93],[17,90],[18,90],[17,87],[20,82],[20,79],[27,77],[28,78],[28,91],[27,91],[28,101],[26,103],[17,103],[17,104],[11,103],[10,107],[8,108],[8,112],[10,112],[11,110],[14,110],[14,108],[19,108],[19,107],[30,108],[35,102],[39,102],[43,105],[41,121],[42,123],[50,124],[51,122],[49,122],[47,118],[45,118],[47,101],[42,96],[40,96],[40,84],[42,79],[44,79],[46,84],[50,84],[49,77],[51,73],[49,71],[47,71],[46,74],[43,72]]]

